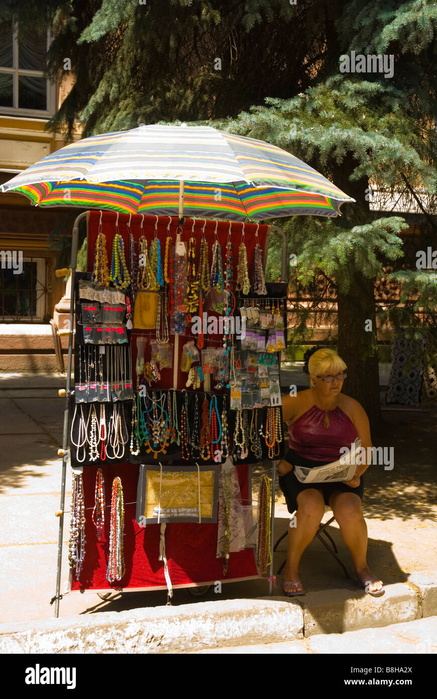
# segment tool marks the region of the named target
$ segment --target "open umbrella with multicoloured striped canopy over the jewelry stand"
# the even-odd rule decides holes
[[[142,125],[57,150],[4,185],[35,206],[242,221],[336,217],[355,201],[294,155],[212,127]]]

